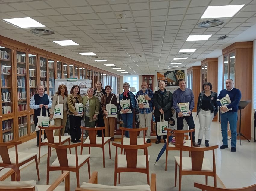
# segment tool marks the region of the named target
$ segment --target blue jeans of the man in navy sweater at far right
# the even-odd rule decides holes
[[[221,115],[221,134],[223,145],[228,145],[228,122],[231,130],[231,147],[236,147],[237,112],[226,112]]]

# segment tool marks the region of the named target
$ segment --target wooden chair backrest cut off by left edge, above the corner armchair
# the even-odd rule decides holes
[[[21,144],[21,141],[0,143],[0,156],[1,156],[2,161],[3,161],[4,164],[11,164],[11,160],[10,160],[9,152],[8,152],[8,146],[13,146],[13,145],[15,145],[16,164],[19,163],[19,160],[18,160],[18,147],[17,147],[17,145],[19,145],[19,144]]]

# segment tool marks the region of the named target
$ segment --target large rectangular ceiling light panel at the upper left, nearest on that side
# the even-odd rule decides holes
[[[40,22],[37,22],[30,17],[3,19],[3,20],[5,20],[13,25],[16,25],[20,28],[45,27],[45,25],[42,25]]]

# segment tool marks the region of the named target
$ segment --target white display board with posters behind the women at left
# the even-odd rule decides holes
[[[91,88],[92,80],[91,79],[55,79],[55,92],[58,91],[58,87],[61,84],[67,86],[67,93],[70,94],[70,90],[73,85],[78,85],[80,89],[80,95],[84,96],[87,94],[87,89]]]

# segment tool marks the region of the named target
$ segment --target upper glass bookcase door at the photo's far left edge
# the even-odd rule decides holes
[[[14,112],[12,100],[12,49],[0,46],[2,115]]]

